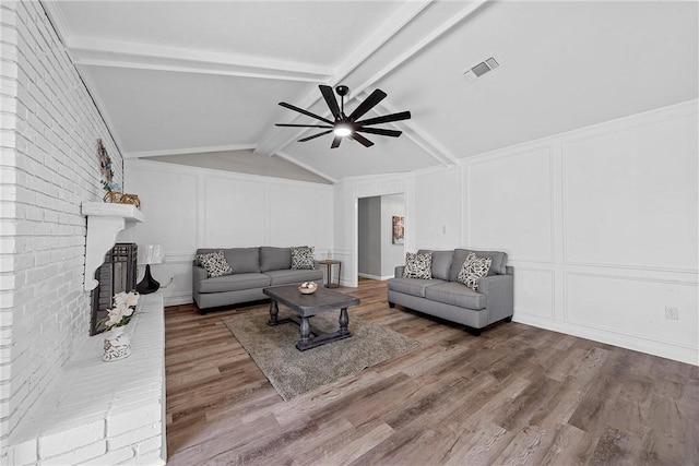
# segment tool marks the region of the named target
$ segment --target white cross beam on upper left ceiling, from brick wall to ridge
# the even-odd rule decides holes
[[[104,40],[64,37],[66,47],[75,64],[175,71],[182,73],[222,74],[269,80],[325,82],[330,68],[283,60]]]

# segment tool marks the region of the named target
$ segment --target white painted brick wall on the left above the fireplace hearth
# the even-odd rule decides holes
[[[8,464],[13,432],[87,340],[81,204],[103,195],[97,139],[119,182],[122,158],[42,4],[3,0],[0,27],[0,464]],[[39,450],[51,449],[45,442]],[[73,454],[99,449],[106,439]],[[28,463],[37,452],[23,444],[13,454]]]

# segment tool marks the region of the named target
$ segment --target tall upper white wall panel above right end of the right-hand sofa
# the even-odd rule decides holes
[[[469,246],[512,260],[554,260],[553,150],[497,157],[466,169]]]

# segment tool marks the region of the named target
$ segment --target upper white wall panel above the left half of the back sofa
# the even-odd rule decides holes
[[[264,184],[208,177],[203,241],[206,248],[260,246],[264,238]]]

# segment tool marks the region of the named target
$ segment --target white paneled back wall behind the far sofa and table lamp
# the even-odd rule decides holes
[[[146,220],[119,240],[163,246],[165,261],[151,272],[163,286],[174,279],[165,306],[192,302],[197,248],[307,244],[317,259],[332,250],[331,186],[139,159],[127,159],[125,174]]]

